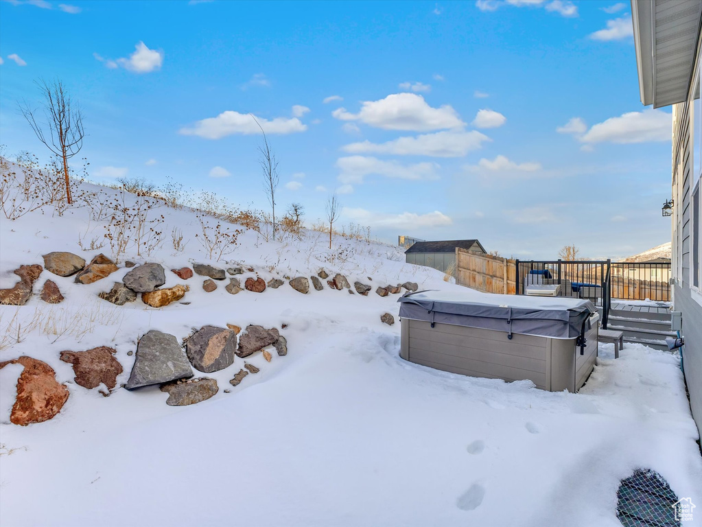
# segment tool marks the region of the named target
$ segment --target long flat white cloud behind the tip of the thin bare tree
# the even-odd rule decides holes
[[[276,117],[270,121],[263,117],[256,117],[256,121],[254,121],[253,117],[251,114],[240,114],[239,112],[227,110],[227,112],[222,112],[216,117],[208,117],[197,121],[194,126],[180,128],[179,132],[182,135],[198,135],[205,139],[221,139],[235,133],[252,135],[260,133],[260,128],[258,128],[256,121],[258,121],[265,133],[270,134],[288,134],[307,130],[307,125],[302,124],[297,117],[290,119],[287,117]]]

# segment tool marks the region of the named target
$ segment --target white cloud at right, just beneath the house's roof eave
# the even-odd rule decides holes
[[[618,144],[670,141],[670,119],[672,119],[670,114],[659,109],[628,112],[593,125],[580,140],[585,143],[614,142]]]

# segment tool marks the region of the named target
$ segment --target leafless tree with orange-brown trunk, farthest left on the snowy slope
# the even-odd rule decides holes
[[[66,180],[66,201],[70,205],[71,185],[68,177],[68,159],[80,152],[83,147],[83,114],[78,105],[72,105],[71,96],[63,83],[56,79],[48,83],[44,79],[34,81],[44,98],[45,123],[37,121],[37,110],[20,104],[20,112],[27,119],[37,138],[63,161],[63,175]]]

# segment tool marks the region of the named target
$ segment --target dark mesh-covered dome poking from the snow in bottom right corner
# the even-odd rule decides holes
[[[616,515],[624,527],[680,527],[675,519],[677,496],[661,474],[637,469],[617,491]]]

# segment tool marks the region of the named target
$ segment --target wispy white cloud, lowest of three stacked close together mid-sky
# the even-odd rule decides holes
[[[403,165],[397,161],[381,161],[376,157],[347,156],[336,160],[340,170],[338,180],[342,183],[360,184],[366,175],[383,175],[386,178],[403,180],[435,180],[440,168],[436,163]]]

